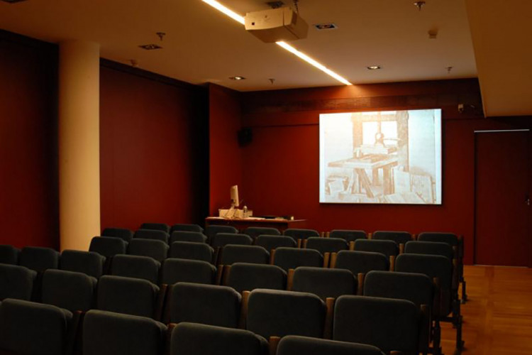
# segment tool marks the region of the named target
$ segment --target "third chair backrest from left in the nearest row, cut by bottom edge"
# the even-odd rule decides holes
[[[172,330],[170,342],[170,355],[181,354],[267,355],[268,343],[243,329],[182,322]]]

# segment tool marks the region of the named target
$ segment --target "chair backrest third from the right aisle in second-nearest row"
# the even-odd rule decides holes
[[[240,294],[226,286],[176,283],[170,288],[167,302],[168,321],[236,328],[240,300]]]

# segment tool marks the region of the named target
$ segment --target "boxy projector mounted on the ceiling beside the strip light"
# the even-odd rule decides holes
[[[306,38],[309,25],[289,7],[248,12],[245,29],[266,43]]]

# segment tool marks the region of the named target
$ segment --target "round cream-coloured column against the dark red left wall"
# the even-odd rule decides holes
[[[60,247],[89,250],[100,234],[99,44],[59,46]]]

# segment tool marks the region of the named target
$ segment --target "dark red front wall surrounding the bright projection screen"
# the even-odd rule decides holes
[[[378,229],[453,231],[465,236],[472,262],[475,140],[477,129],[523,126],[484,119],[477,80],[448,80],[243,94],[243,126],[253,143],[242,148],[243,188],[255,214],[294,214],[318,231]],[[474,104],[458,114],[458,103]],[[320,113],[377,109],[443,109],[443,204],[320,204]]]

